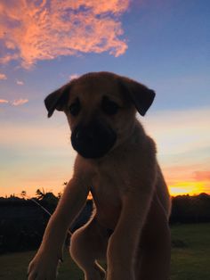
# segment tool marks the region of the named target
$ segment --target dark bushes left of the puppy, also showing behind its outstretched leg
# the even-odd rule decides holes
[[[53,213],[58,198],[45,194],[42,200],[33,198]],[[84,210],[71,226],[71,231],[85,224],[92,212],[92,201],[87,201]],[[0,198],[0,253],[8,251],[35,250],[41,243],[44,229],[50,218],[40,206],[32,200],[17,197]]]

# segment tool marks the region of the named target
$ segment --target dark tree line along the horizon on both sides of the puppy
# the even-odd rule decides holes
[[[11,195],[0,197],[0,253],[35,250],[42,241],[44,228],[55,210],[61,194],[57,196],[37,189],[36,196],[28,198]],[[93,211],[93,201],[87,200],[70,231],[85,224]],[[178,195],[172,198],[170,224],[210,222],[210,195]],[[69,236],[67,236],[69,243]]]

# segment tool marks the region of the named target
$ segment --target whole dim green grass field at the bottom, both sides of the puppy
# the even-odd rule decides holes
[[[210,279],[210,224],[172,226],[171,280]],[[23,280],[34,251],[0,255],[0,279]],[[82,280],[83,274],[65,253],[59,280]]]

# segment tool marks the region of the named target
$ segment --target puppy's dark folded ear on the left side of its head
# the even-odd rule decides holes
[[[63,111],[65,104],[68,101],[70,84],[61,86],[61,88],[52,92],[44,99],[45,107],[48,111],[48,118],[52,116],[53,111]]]

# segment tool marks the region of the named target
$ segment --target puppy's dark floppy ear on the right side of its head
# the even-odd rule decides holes
[[[120,78],[120,84],[123,86],[125,95],[134,104],[136,110],[139,111],[141,116],[144,116],[153,103],[156,95],[155,92],[130,78]]]

